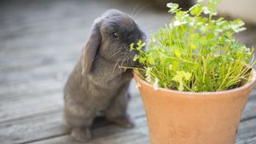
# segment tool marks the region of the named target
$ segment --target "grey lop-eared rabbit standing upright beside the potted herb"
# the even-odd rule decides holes
[[[90,126],[98,112],[120,126],[133,127],[126,113],[128,88],[135,66],[130,43],[144,42],[146,35],[129,15],[107,10],[94,21],[90,38],[64,88],[65,117],[71,135],[80,142],[90,140]]]

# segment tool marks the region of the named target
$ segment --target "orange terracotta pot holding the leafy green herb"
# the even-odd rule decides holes
[[[253,89],[250,82],[221,92],[179,92],[134,79],[142,95],[151,144],[233,144],[246,101]]]

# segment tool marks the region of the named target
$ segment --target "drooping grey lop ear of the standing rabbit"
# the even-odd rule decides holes
[[[99,22],[95,22],[90,38],[82,51],[82,74],[88,74],[90,72],[101,41],[102,35],[99,30]]]

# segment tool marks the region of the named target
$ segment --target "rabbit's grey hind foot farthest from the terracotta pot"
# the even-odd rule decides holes
[[[91,139],[90,130],[88,128],[73,128],[71,135],[78,142],[88,142]]]

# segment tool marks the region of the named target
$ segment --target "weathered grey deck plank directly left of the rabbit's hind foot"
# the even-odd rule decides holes
[[[67,134],[62,113],[40,115],[18,122],[0,124],[1,143],[21,143],[54,135]]]

